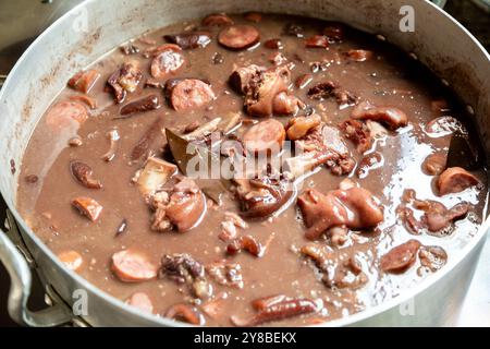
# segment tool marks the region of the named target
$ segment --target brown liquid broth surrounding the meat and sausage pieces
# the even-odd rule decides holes
[[[231,325],[230,316],[246,317],[255,313],[250,301],[261,297],[284,293],[289,297],[305,297],[321,299],[323,309],[314,315],[303,315],[270,323],[274,326],[306,325],[313,318],[323,317],[324,321],[339,318],[356,313],[366,308],[380,304],[421,282],[429,275],[419,276],[416,262],[406,273],[391,275],[380,272],[379,256],[392,246],[408,239],[417,239],[426,245],[442,246],[449,258],[455,258],[460,250],[471,237],[482,220],[487,195],[487,180],[485,169],[473,173],[483,183],[479,189],[468,189],[458,194],[443,197],[434,194],[433,177],[421,171],[420,165],[427,155],[436,151],[448,151],[451,135],[430,137],[424,127],[439,112],[431,109],[431,103],[444,98],[453,101],[445,88],[439,84],[425,68],[406,57],[393,46],[382,43],[364,33],[348,29],[342,43],[331,44],[328,49],[305,49],[303,39],[282,35],[286,23],[301,23],[305,28],[305,37],[318,34],[324,22],[305,20],[284,15],[264,15],[260,23],[246,22],[242,15],[232,16],[235,23],[248,23],[256,26],[261,34],[261,43],[280,37],[284,49],[282,53],[289,61],[295,63],[292,70],[292,81],[305,73],[310,73],[309,62],[331,60],[326,71],[313,74],[314,81],[308,87],[324,80],[334,80],[343,88],[352,91],[362,100],[369,100],[380,106],[395,106],[408,116],[409,125],[397,132],[390,133],[377,143],[377,149],[383,155],[383,165],[373,169],[364,179],[358,179],[353,171],[350,177],[360,186],[370,190],[384,206],[384,220],[378,227],[378,232],[350,232],[350,237],[359,237],[357,241],[348,240],[339,253],[357,253],[364,273],[369,281],[360,289],[330,289],[318,280],[310,263],[295,253],[307,240],[304,237],[304,225],[295,205],[290,206],[279,217],[265,220],[249,221],[247,233],[254,234],[259,241],[266,241],[274,233],[267,253],[254,257],[247,253],[235,256],[225,255],[226,243],[220,241],[220,222],[226,210],[237,210],[231,193],[225,194],[223,206],[209,208],[204,221],[195,229],[185,232],[159,233],[150,230],[150,210],[138,190],[131,183],[135,171],[142,161],[131,164],[132,148],[145,131],[158,118],[162,128],[184,128],[194,120],[205,121],[224,115],[229,111],[243,111],[243,97],[232,92],[228,86],[228,79],[236,65],[255,63],[272,67],[267,57],[271,49],[259,46],[245,51],[230,51],[216,43],[219,28],[212,28],[212,43],[206,48],[184,50],[185,67],[175,77],[196,77],[209,81],[218,98],[211,103],[208,110],[199,108],[189,112],[176,112],[167,104],[159,110],[145,112],[125,120],[113,120],[119,115],[119,105],[114,105],[110,93],[105,92],[107,79],[118,67],[127,60],[136,59],[142,63],[144,80],[149,77],[149,63],[140,53],[124,56],[114,50],[109,56],[95,62],[91,68],[102,73],[101,79],[91,89],[90,95],[97,100],[97,109],[90,111],[90,118],[78,129],[76,124],[68,127],[63,132],[49,128],[42,118],[28,144],[22,164],[22,176],[38,176],[36,183],[21,180],[19,185],[19,209],[34,231],[54,252],[76,250],[82,254],[84,264],[79,275],[101,290],[121,299],[127,299],[136,291],[146,292],[151,299],[155,313],[164,315],[174,303],[189,300],[185,286],[179,286],[169,279],[155,279],[139,284],[124,284],[118,280],[110,270],[111,255],[122,249],[131,248],[145,252],[149,258],[159,264],[163,254],[189,253],[204,264],[228,258],[242,265],[245,287],[240,289],[215,286],[215,294],[226,292],[228,298],[222,302],[222,315],[217,318],[206,317],[207,325]],[[172,25],[146,35],[155,39],[158,45],[163,44],[164,34],[180,33],[189,25],[197,25],[199,21]],[[134,45],[144,51],[148,45],[135,40]],[[343,58],[342,52],[348,49],[367,49],[375,52],[375,57],[365,62],[352,62]],[[224,58],[221,64],[215,64],[212,57],[219,52]],[[305,62],[302,63],[298,58]],[[336,63],[339,61],[340,63]],[[70,76],[68,76],[70,77]],[[163,80],[164,81],[164,80]],[[161,91],[142,88],[130,94],[126,101],[135,100],[148,94],[158,94],[163,100]],[[339,110],[335,101],[309,100],[308,89],[292,88],[302,100],[307,100],[329,123],[336,125],[350,117],[352,108]],[[76,93],[71,88],[63,89],[56,101],[65,100]],[[452,105],[449,113],[462,120],[465,124],[468,117],[457,104]],[[287,117],[278,117],[286,123]],[[109,142],[108,131],[117,128],[121,135],[119,149],[111,163],[105,163],[101,156],[107,152]],[[468,128],[470,129],[470,128]],[[83,140],[79,147],[68,146],[68,141],[77,134]],[[359,154],[351,142],[346,142],[356,158]],[[79,159],[89,164],[96,178],[103,183],[102,190],[89,190],[77,183],[70,173],[69,164]],[[321,192],[338,188],[343,177],[335,177],[329,170],[321,168],[309,176],[304,184]],[[473,205],[471,213],[455,222],[455,230],[444,237],[429,234],[412,236],[397,218],[395,208],[401,202],[405,189],[414,189],[419,198],[430,198],[445,204],[448,207],[466,201]],[[97,222],[91,222],[81,216],[70,202],[78,195],[87,195],[103,205],[105,210]],[[48,218],[49,217],[49,218]],[[121,221],[126,219],[127,229],[115,237]],[[241,232],[242,234],[245,231]],[[327,244],[324,241],[317,242]]]

